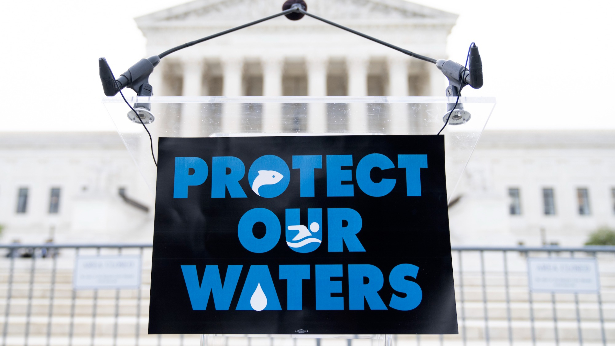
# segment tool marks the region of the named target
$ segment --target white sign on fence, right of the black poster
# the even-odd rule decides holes
[[[598,262],[595,258],[528,258],[528,284],[532,292],[597,293]]]

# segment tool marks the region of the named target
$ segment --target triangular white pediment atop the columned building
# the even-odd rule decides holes
[[[282,1],[196,0],[136,18],[139,26],[164,23],[249,22],[280,12]],[[405,0],[311,0],[308,10],[330,20],[408,20],[454,22],[457,15]]]

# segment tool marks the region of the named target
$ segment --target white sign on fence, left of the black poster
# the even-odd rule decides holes
[[[77,256],[74,289],[119,289],[141,286],[140,255]]]

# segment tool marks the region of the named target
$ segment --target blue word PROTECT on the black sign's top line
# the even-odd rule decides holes
[[[354,185],[352,155],[327,155],[327,196],[352,197]],[[406,171],[407,196],[421,196],[421,168],[427,168],[427,155],[397,155],[397,167]],[[314,197],[315,169],[322,168],[322,155],[295,155],[293,169],[300,171],[300,196]],[[395,168],[391,159],[373,153],[363,157],[357,164],[357,185],[367,195],[385,196],[395,187],[395,179],[371,180],[371,171]],[[192,172],[190,170],[193,170]],[[227,174],[228,171],[228,174]],[[234,156],[213,156],[212,158],[212,198],[225,198],[226,190],[231,198],[245,198],[244,189],[239,181],[244,178],[245,165]],[[208,177],[207,163],[196,157],[176,157],[173,198],[188,198],[188,187],[202,185]],[[264,155],[256,159],[248,171],[250,188],[258,196],[274,198],[281,195],[290,183],[290,170],[285,161],[276,155]]]

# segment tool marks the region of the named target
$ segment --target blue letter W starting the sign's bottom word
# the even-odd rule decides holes
[[[200,285],[199,277],[196,273],[196,265],[182,265],[181,272],[184,274],[184,281],[186,281],[192,310],[205,310],[210,292],[212,293],[213,304],[216,310],[229,310],[242,267],[242,265],[229,265],[226,270],[223,286],[217,265],[205,266],[203,283]]]

